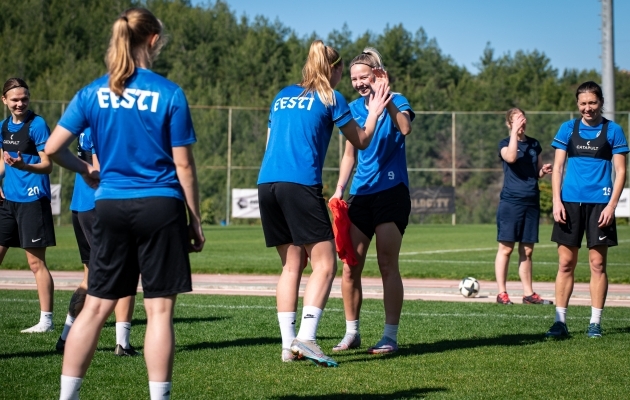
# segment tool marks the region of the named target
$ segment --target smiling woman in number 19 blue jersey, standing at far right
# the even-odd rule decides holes
[[[584,82],[575,97],[580,118],[562,124],[551,144],[556,149],[551,176],[555,221],[551,240],[558,244],[559,263],[556,318],[546,336],[569,336],[566,313],[586,232],[591,269],[591,319],[586,334],[600,338],[608,292],[606,256],[608,248],[617,245],[615,208],[626,181],[628,142],[623,129],[602,116],[604,97],[597,83]]]

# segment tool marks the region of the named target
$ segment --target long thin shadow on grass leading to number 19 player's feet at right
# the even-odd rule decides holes
[[[544,342],[548,339],[544,334],[515,334],[515,335],[502,335],[498,337],[488,338],[474,338],[474,339],[456,339],[456,340],[441,340],[434,343],[416,343],[408,346],[401,346],[396,353],[383,354],[380,357],[374,355],[363,355],[360,357],[343,360],[343,363],[347,362],[364,362],[367,360],[379,360],[383,358],[395,358],[431,353],[443,353],[446,351],[459,350],[459,349],[472,349],[476,347],[488,347],[488,346],[527,346],[538,342]],[[358,354],[353,354],[356,357]]]

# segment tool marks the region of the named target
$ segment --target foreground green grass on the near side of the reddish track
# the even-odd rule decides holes
[[[68,304],[59,292],[56,309]],[[319,329],[330,348],[343,335],[342,303],[331,299]],[[0,397],[49,399],[59,393],[60,355],[49,334],[20,334],[35,322],[35,291],[0,291]],[[339,368],[280,362],[275,301],[270,297],[182,295],[175,312],[173,398],[181,399],[627,399],[630,318],[607,308],[604,337],[587,339],[589,308],[572,306],[569,340],[543,339],[553,307],[407,301],[400,351],[371,356],[382,332],[380,301],[364,302],[359,350],[335,354]],[[131,342],[142,347],[141,296]],[[81,390],[84,399],[148,398],[142,357],[113,355],[114,324],[103,330]]]

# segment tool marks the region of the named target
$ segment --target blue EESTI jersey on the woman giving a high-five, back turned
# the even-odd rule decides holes
[[[335,91],[335,104],[326,107],[317,93],[305,94],[298,85],[280,91],[269,113],[269,141],[258,184],[292,182],[322,183],[322,169],[333,125],[352,120],[348,103]]]

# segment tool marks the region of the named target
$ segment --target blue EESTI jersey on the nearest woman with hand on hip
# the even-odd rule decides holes
[[[95,198],[175,197],[183,193],[172,148],[196,141],[182,89],[147,69],[136,68],[122,96],[96,79],[72,99],[59,125],[74,135],[92,129],[101,182]]]

